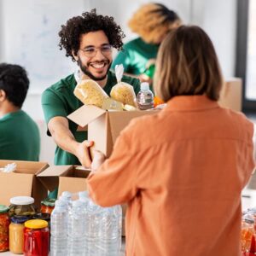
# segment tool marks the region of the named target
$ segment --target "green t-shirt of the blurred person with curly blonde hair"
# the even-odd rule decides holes
[[[123,64],[125,73],[139,75],[145,72],[149,59],[155,59],[159,45],[147,44],[142,38],[136,38],[124,45],[124,49],[119,52],[112,64]]]

